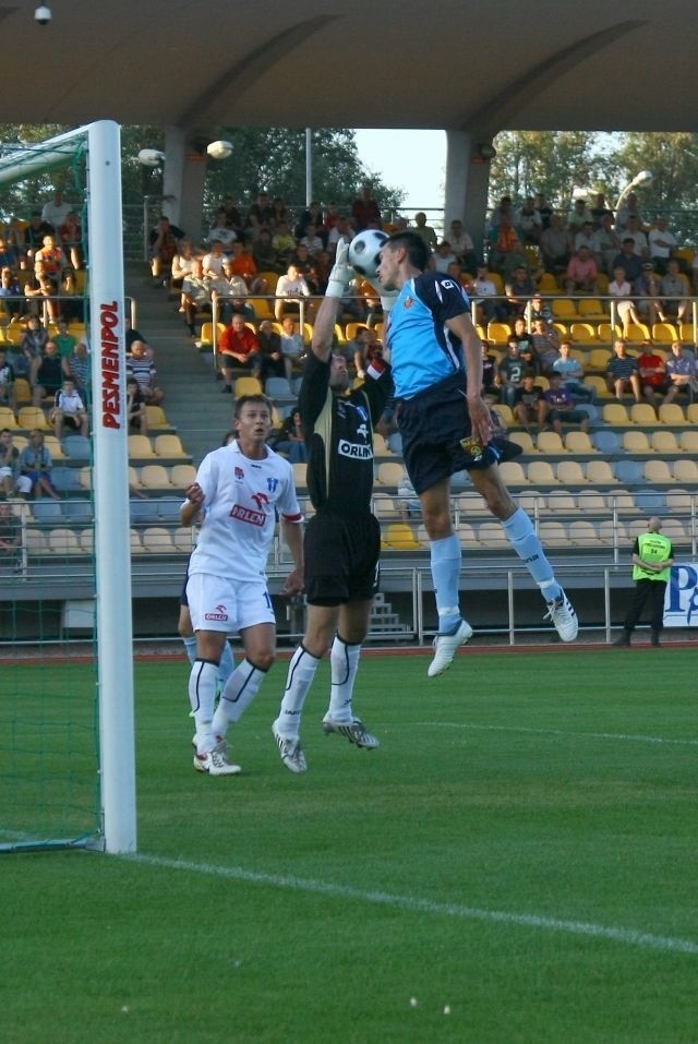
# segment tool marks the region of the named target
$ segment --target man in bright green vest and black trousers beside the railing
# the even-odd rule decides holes
[[[652,645],[660,645],[659,636],[664,625],[664,592],[674,563],[674,549],[669,537],[662,533],[662,520],[653,515],[647,524],[647,532],[640,533],[633,548],[633,579],[635,592],[625,617],[623,634],[616,646],[630,645],[630,635],[649,599],[652,610],[650,627]]]

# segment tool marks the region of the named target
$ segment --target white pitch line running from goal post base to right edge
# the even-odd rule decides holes
[[[507,913],[504,910],[483,910],[478,907],[462,907],[459,903],[434,902],[416,896],[399,896],[385,891],[365,891],[349,885],[336,885],[329,881],[313,880],[303,877],[287,877],[279,874],[264,874],[248,871],[242,866],[213,866],[208,863],[190,863],[185,860],[172,860],[158,855],[127,855],[130,862],[146,866],[159,866],[168,869],[186,871],[190,874],[209,874],[232,880],[244,880],[253,885],[270,885],[274,888],[288,888],[317,896],[337,899],[359,899],[383,907],[395,907],[416,913],[429,913],[436,916],[457,917],[461,921],[489,921],[497,924],[510,924],[525,928],[542,928],[547,932],[562,932],[567,935],[586,935],[591,938],[610,939],[640,949],[662,952],[690,953],[698,956],[698,943],[690,939],[677,939],[671,936],[652,935],[649,932],[636,932],[631,928],[613,928],[587,921],[564,921],[557,917],[543,917],[527,913]]]

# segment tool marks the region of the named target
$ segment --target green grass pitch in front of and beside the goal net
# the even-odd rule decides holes
[[[192,768],[186,664],[139,663],[139,856],[0,859],[8,1041],[695,1041],[695,652],[428,662],[364,656],[375,752],[322,733],[323,665],[301,777],[277,663],[232,779]]]

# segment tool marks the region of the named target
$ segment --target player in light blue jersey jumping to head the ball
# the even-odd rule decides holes
[[[492,420],[482,398],[482,344],[462,287],[428,271],[429,248],[410,231],[381,251],[378,280],[389,307],[386,345],[393,367],[397,421],[408,475],[419,495],[430,540],[438,611],[431,677],[442,674],[472,636],[458,601],[460,543],[450,518],[450,476],[466,469],[500,519],[512,547],[547,603],[563,641],[577,637],[577,616],[556,581],[530,518],[517,507],[497,467]],[[393,301],[389,298],[393,295]]]

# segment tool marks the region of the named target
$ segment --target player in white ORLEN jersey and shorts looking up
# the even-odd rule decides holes
[[[196,722],[194,768],[210,776],[240,771],[228,759],[226,733],[274,662],[276,625],[265,571],[277,513],[294,566],[281,593],[297,595],[303,585],[302,516],[290,464],[266,445],[272,429],[268,399],[241,396],[233,427],[237,440],[204,458],[181,509],[183,526],[204,512],[186,584],[196,635],[189,698]],[[231,631],[240,633],[245,655],[214,711],[218,663]]]

